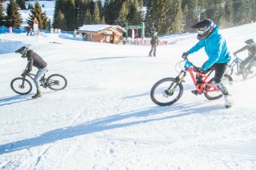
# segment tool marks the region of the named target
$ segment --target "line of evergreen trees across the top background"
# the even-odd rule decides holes
[[[24,0],[10,0],[6,11],[0,5],[0,26],[19,28],[22,18],[18,10],[24,4]],[[255,22],[256,0],[56,0],[52,24],[38,2],[30,5],[26,29],[33,26],[34,18],[40,30],[72,31],[82,25],[125,26],[125,22],[138,26],[145,22],[147,35],[154,31],[178,34],[191,31],[190,26],[204,18],[221,28]]]

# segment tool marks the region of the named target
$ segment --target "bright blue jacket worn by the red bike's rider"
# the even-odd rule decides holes
[[[213,32],[207,38],[203,38],[187,51],[187,53],[194,53],[205,47],[209,59],[202,65],[203,70],[209,69],[215,63],[226,63],[231,59],[226,40],[219,34],[218,30],[218,26],[215,26]]]

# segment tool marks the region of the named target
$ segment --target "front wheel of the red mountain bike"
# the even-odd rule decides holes
[[[174,85],[170,87],[172,83],[174,83]],[[170,93],[170,89],[173,89],[175,85],[177,85],[177,87],[174,90],[174,93]],[[175,78],[168,77],[156,82],[153,85],[150,91],[150,97],[151,97],[151,100],[156,105],[166,106],[166,105],[172,105],[176,101],[178,101],[180,97],[182,97],[182,93],[183,93],[182,83],[177,84],[177,81]]]

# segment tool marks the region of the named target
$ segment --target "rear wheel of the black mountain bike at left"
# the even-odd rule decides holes
[[[60,74],[52,74],[47,78],[47,87],[53,90],[65,89],[67,85],[66,78]]]

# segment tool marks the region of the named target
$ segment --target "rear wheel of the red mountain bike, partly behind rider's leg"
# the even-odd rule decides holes
[[[214,81],[214,78],[210,79],[209,83],[212,84]],[[229,75],[225,74],[224,77],[222,78],[222,84],[223,85],[232,85],[233,84],[233,78],[230,77]],[[213,89],[212,87],[206,86],[205,89]],[[216,100],[219,99],[223,96],[222,92],[220,90],[215,91],[215,92],[208,92],[204,93],[205,97],[209,100]]]

